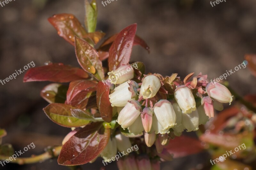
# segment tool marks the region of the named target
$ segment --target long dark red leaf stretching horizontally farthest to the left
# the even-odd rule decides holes
[[[54,63],[46,66],[30,68],[26,72],[23,82],[53,81],[64,83],[88,77],[88,74],[82,69],[63,65],[62,63]]]

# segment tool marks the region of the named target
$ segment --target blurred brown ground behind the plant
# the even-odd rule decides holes
[[[181,78],[202,72],[210,79],[218,78],[241,64],[244,54],[256,53],[256,1],[226,1],[212,7],[210,0],[117,0],[104,7],[99,0],[97,29],[107,33],[107,38],[137,23],[137,34],[148,43],[151,53],[136,46],[132,61],[144,62],[147,72],[179,73]],[[83,23],[84,1],[16,0],[0,6],[0,79],[31,61],[36,66],[47,61],[78,66],[74,47],[47,21],[55,13],[73,13]],[[0,84],[0,127],[8,133],[3,143],[12,143],[16,151],[34,142],[36,148],[22,155],[30,156],[42,153],[48,145],[60,144],[70,129],[56,125],[42,111],[47,102],[39,93],[48,82],[23,83],[24,74]],[[248,68],[236,71],[228,81],[241,95],[256,92]],[[101,160],[83,167],[100,169]],[[162,169],[198,168],[200,163],[209,164],[206,153],[163,163]],[[58,166],[54,159],[0,169],[68,168]],[[116,169],[115,163],[106,169]]]

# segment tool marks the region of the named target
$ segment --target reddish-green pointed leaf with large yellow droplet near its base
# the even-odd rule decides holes
[[[98,52],[88,42],[77,37],[75,48],[76,57],[81,67],[97,80],[103,80],[104,70]]]

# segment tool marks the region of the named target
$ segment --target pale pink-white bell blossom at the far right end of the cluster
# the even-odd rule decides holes
[[[229,92],[228,88],[220,83],[209,83],[206,86],[206,93],[211,98],[221,102],[221,103],[231,103],[232,94]]]

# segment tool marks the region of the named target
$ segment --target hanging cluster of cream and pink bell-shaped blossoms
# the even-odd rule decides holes
[[[129,66],[122,66],[124,69]],[[116,70],[120,71],[120,70]],[[113,71],[109,76],[113,76]],[[133,81],[133,72],[121,77],[109,95],[112,107],[117,107],[116,122],[134,135],[145,131],[148,147],[154,143],[165,145],[170,136],[180,136],[186,129],[195,131],[214,117],[214,108],[223,109],[221,103],[230,103],[232,95],[220,83],[207,82],[201,73],[181,81],[177,74],[163,77],[159,74],[144,75],[141,82]],[[168,137],[169,136],[169,137]],[[161,150],[161,146],[157,147]]]

